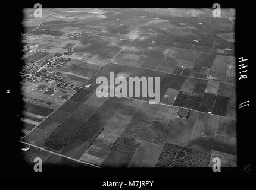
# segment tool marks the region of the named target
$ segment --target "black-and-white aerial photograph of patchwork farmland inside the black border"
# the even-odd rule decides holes
[[[237,167],[235,9],[23,9],[20,157]]]

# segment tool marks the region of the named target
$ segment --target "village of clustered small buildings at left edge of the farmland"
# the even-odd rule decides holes
[[[81,35],[81,33],[69,33],[71,38],[78,37]],[[39,45],[24,45],[23,46],[23,52],[39,52]],[[43,49],[45,51],[47,49]],[[60,93],[60,97],[62,99],[67,99],[68,96],[70,96],[70,93],[61,94],[61,90],[58,90],[58,88],[70,90],[70,91],[77,91],[79,90],[79,86],[65,83],[63,80],[65,79],[64,76],[60,75],[60,72],[54,71],[54,68],[61,68],[66,62],[70,61],[70,58],[62,58],[62,55],[69,55],[74,52],[74,49],[68,49],[64,53],[49,53],[49,55],[46,55],[42,59],[36,62],[29,62],[25,61],[23,70],[21,72],[21,83],[26,82],[38,82],[43,81],[48,84],[51,84],[51,87],[48,87],[45,89],[47,85],[39,85],[36,88],[31,88],[32,90],[39,91],[40,93],[48,94],[49,96],[53,96],[56,93]],[[53,86],[52,86],[53,85]],[[55,86],[55,87],[54,87]],[[29,87],[30,88],[30,87]],[[29,99],[24,98],[25,102],[29,102]]]

